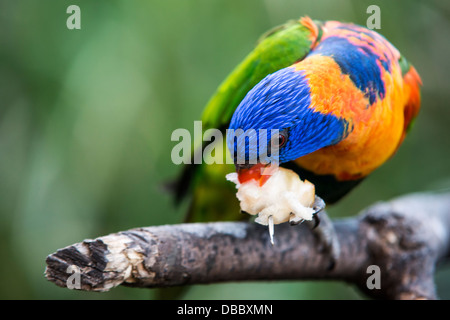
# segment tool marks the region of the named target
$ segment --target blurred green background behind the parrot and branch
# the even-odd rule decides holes
[[[66,8],[81,8],[68,30]],[[267,29],[301,15],[365,25],[417,68],[423,107],[397,155],[339,205],[356,214],[379,200],[450,186],[449,1],[0,2],[0,298],[152,299],[154,290],[85,293],[43,275],[58,248],[138,226],[180,222],[161,182],[174,177],[176,128],[193,129],[227,73]],[[449,269],[449,268],[447,268]],[[450,298],[450,272],[437,274]],[[330,282],[193,286],[188,299],[360,299]]]

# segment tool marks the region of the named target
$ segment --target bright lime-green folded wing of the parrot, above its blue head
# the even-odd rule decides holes
[[[309,18],[304,18],[310,21]],[[228,126],[239,103],[267,75],[302,60],[316,37],[304,20],[291,20],[259,39],[255,49],[228,75],[206,105],[205,129]],[[303,22],[303,23],[302,23]]]

